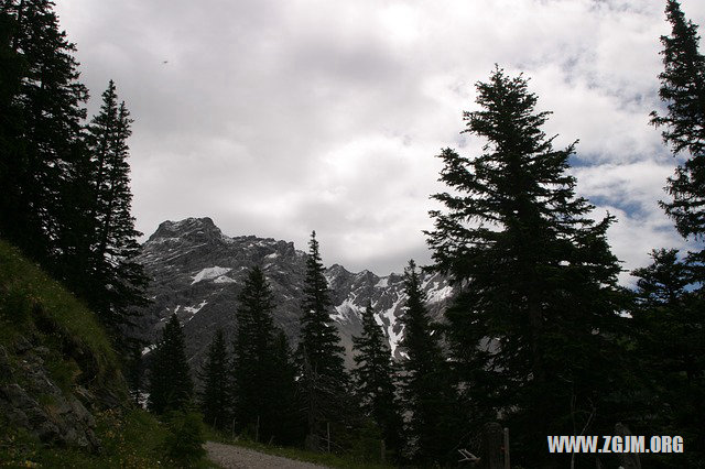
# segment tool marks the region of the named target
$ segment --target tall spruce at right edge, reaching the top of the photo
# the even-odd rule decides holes
[[[675,0],[666,2],[671,35],[661,36],[664,70],[659,75],[659,97],[668,112],[651,113],[651,122],[664,127],[663,141],[674,154],[686,153],[668,179],[671,203],[661,203],[679,232],[705,240],[705,56],[698,52],[697,24],[686,20]],[[702,255],[702,253],[701,253]],[[703,259],[701,259],[701,262]]]

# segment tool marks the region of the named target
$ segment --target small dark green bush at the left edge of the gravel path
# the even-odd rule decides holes
[[[169,414],[166,455],[181,465],[193,465],[206,454],[203,448],[204,426],[200,414],[192,411],[174,411]]]

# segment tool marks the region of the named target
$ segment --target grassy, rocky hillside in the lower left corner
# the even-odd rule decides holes
[[[0,240],[0,466],[161,467],[166,437],[94,314]]]

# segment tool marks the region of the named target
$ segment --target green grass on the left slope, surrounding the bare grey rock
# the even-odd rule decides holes
[[[48,327],[47,327],[48,325]],[[50,352],[45,363],[65,392],[77,384],[86,363],[77,363],[61,350],[69,342],[90,356],[91,385],[109,390],[127,401],[127,389],[118,358],[95,315],[39,266],[0,240],[0,346],[9,352],[32,337]],[[82,370],[82,364],[84,370]],[[21,377],[0,375],[0,385]],[[41,402],[41,396],[37,396]],[[77,449],[46,447],[26,432],[10,427],[0,415],[0,466],[75,468],[171,467],[164,458],[167,429],[139,408],[126,413],[106,411],[96,415],[99,455]],[[213,467],[204,462],[198,467]]]

